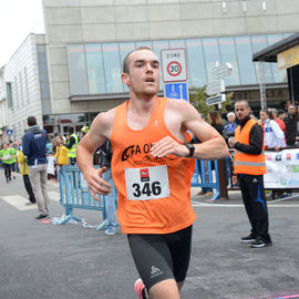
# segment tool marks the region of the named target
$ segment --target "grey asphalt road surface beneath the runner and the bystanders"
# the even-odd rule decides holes
[[[0,175],[1,299],[134,299],[138,277],[117,231],[82,224],[53,225],[35,220],[37,207],[25,206],[22,178],[11,184]],[[51,217],[61,217],[58,184],[50,183]],[[205,202],[193,189],[197,220],[193,254],[182,299],[264,299],[298,295],[299,196],[269,205],[274,246],[252,249],[239,241],[249,225],[239,193],[229,200]],[[96,212],[75,210],[89,225]]]

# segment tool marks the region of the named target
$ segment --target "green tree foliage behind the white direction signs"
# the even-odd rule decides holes
[[[197,89],[197,87],[190,87],[189,89],[189,101],[190,104],[195,106],[195,109],[205,115],[205,118],[207,120],[207,115],[209,111],[217,110],[220,112],[220,114],[226,114],[229,111],[234,111],[231,97],[233,92],[226,93],[226,101],[221,103],[221,109],[218,109],[218,105],[207,105],[206,100],[209,97],[206,92],[206,85],[204,87]]]

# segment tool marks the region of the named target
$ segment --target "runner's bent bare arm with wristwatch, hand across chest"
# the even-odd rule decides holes
[[[173,101],[173,102],[172,102]],[[194,144],[193,157],[200,159],[219,159],[228,155],[225,140],[209,124],[203,121],[196,109],[186,101],[168,100],[165,112],[165,123],[173,135],[185,141],[187,130],[202,141]],[[164,137],[153,145],[152,155],[163,157],[168,154],[185,157],[189,150],[177,143],[171,136]]]

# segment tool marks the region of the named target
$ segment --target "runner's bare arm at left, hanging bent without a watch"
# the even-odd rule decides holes
[[[76,148],[76,163],[86,179],[93,198],[96,194],[107,195],[112,186],[102,178],[105,168],[93,168],[93,154],[96,148],[111,137],[114,112],[99,114],[92,123],[91,131],[80,141]]]

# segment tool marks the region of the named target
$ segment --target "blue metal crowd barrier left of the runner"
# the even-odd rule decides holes
[[[99,168],[99,166],[94,166]],[[74,208],[100,210],[103,214],[103,223],[96,228],[105,226],[105,199],[99,195],[100,202],[92,198],[89,186],[76,165],[64,165],[59,171],[60,203],[65,207],[66,217],[60,224],[82,219],[73,215]]]

